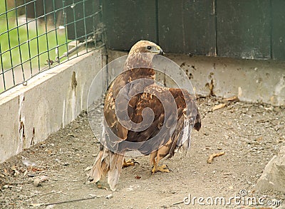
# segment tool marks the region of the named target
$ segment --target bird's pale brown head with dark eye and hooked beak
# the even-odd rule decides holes
[[[155,43],[151,41],[138,41],[133,45],[133,47],[130,49],[130,54],[133,53],[150,53],[152,55],[163,55],[163,50],[160,48],[159,45],[156,45]]]

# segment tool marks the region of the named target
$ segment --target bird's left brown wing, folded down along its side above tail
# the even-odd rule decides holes
[[[135,77],[141,77],[139,73],[145,72],[147,69],[127,70],[115,78],[110,85],[104,100],[104,127],[106,139],[102,139],[102,144],[108,146],[112,151],[118,150],[118,143],[124,141],[128,137],[128,129],[125,123],[129,122],[133,117],[134,109],[142,96],[142,93],[136,94],[135,92],[143,92],[145,86],[151,85],[154,81],[151,79],[136,80],[135,83],[130,81]],[[124,114],[127,112],[127,114]],[[130,118],[127,117],[128,114]],[[123,117],[121,116],[123,115]],[[123,122],[121,124],[120,122]],[[104,138],[104,137],[103,137]],[[105,141],[104,141],[105,140]],[[120,151],[123,151],[120,149]]]

